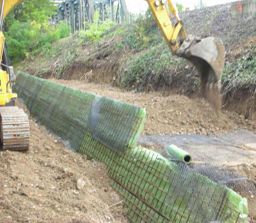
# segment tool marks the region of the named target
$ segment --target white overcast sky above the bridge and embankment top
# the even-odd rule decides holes
[[[203,0],[203,4],[207,6],[218,5],[218,4],[225,4],[228,2],[232,2],[235,0]],[[189,7],[190,9],[194,9],[194,6],[199,4],[199,0],[180,0],[180,1],[173,1],[178,2],[179,4],[183,4],[184,7]],[[133,13],[140,13],[140,11],[145,11],[148,7],[148,3],[144,0],[126,0],[127,7],[129,8],[130,12]]]

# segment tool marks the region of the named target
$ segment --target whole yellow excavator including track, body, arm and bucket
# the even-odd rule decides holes
[[[25,151],[29,148],[28,116],[16,106],[8,106],[17,94],[12,93],[11,76],[13,68],[7,59],[5,38],[2,32],[3,19],[24,0],[1,0],[0,11],[0,118],[2,150]],[[181,21],[177,7],[171,0],[146,0],[173,55],[185,58],[198,69],[201,92],[213,105],[220,107],[220,81],[225,63],[225,47],[214,37],[199,38],[188,35]],[[175,24],[172,24],[175,17]]]

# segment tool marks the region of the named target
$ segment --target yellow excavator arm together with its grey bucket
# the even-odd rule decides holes
[[[215,110],[221,105],[220,81],[225,64],[225,47],[214,37],[187,35],[177,7],[171,0],[146,0],[172,54],[191,61],[199,71],[201,92]],[[171,14],[176,17],[172,25]]]

